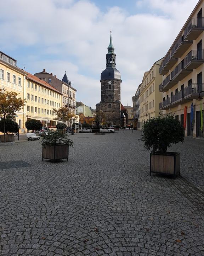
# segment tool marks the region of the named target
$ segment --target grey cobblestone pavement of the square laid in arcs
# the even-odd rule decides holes
[[[70,136],[55,164],[39,141],[1,146],[0,255],[204,256],[204,141],[172,146],[181,176],[150,177],[140,134]]]

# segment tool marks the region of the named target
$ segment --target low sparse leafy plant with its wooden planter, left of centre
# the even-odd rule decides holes
[[[68,138],[68,134],[58,132],[49,132],[47,136],[42,138],[42,161],[44,159],[69,160],[69,146],[73,146],[73,141]]]

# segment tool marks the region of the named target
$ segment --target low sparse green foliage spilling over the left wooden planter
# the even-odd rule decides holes
[[[69,139],[68,134],[58,133],[56,131],[49,132],[47,136],[42,138],[41,144],[45,145],[55,145],[55,144],[67,144],[73,147],[73,141]]]

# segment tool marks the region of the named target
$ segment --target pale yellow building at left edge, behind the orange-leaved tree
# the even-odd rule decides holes
[[[0,89],[17,92],[18,97],[26,99],[24,84],[26,76],[24,70],[18,68],[17,60],[0,52]],[[25,130],[26,106],[16,113],[15,121],[18,123],[20,132]]]

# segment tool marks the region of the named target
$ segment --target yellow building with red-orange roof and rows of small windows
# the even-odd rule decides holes
[[[43,126],[55,127],[53,108],[62,106],[62,93],[47,82],[26,72],[26,118],[40,120]]]

